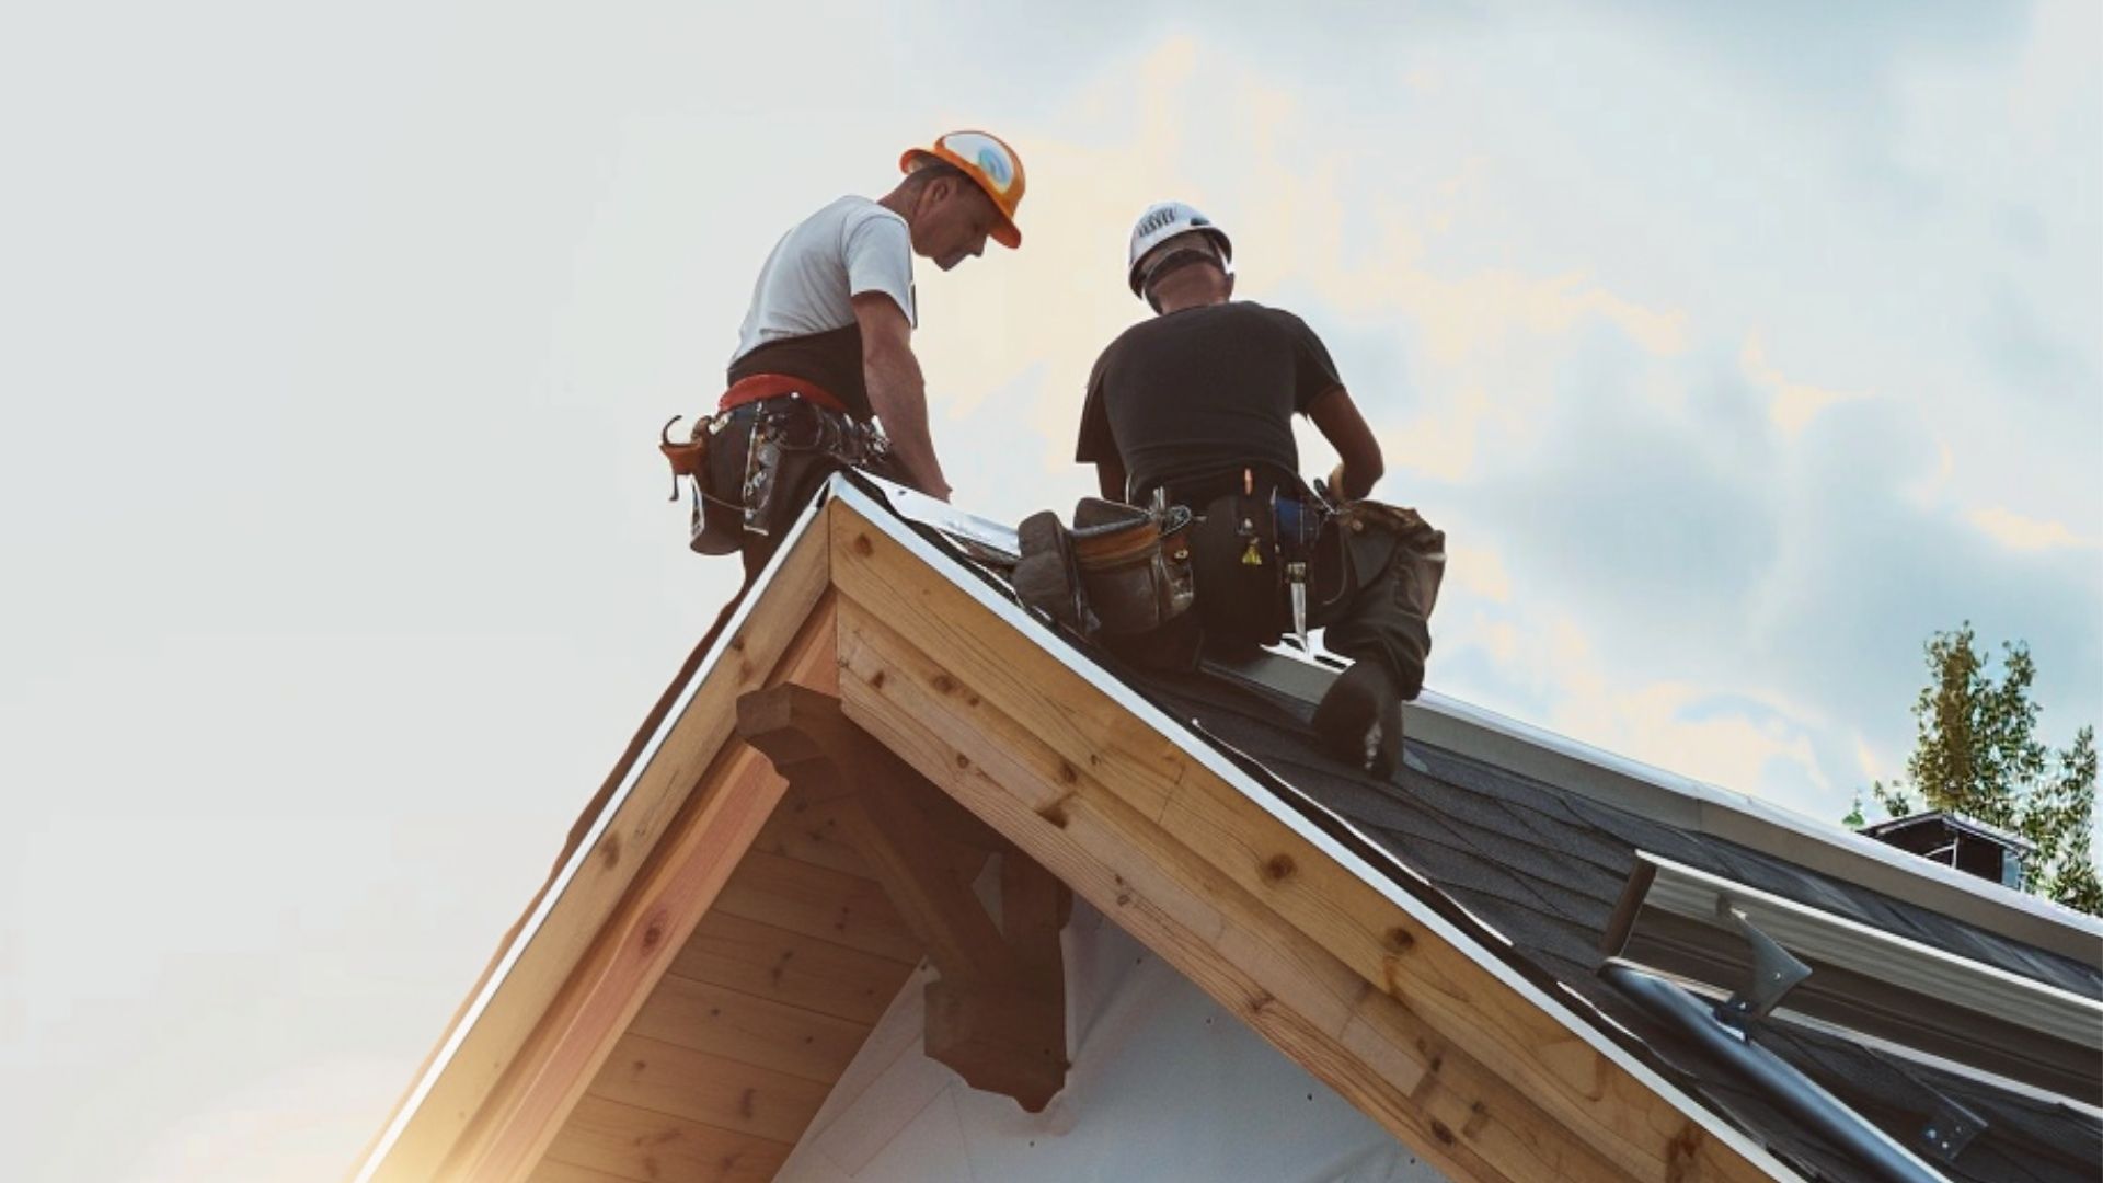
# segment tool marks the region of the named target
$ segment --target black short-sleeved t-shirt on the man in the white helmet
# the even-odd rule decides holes
[[[1249,465],[1300,472],[1293,415],[1344,381],[1298,316],[1251,301],[1127,328],[1087,377],[1075,459],[1121,459],[1134,497]]]

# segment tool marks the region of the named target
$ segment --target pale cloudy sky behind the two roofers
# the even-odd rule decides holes
[[[2067,743],[2099,67],[2078,0],[8,8],[0,1177],[355,1160],[736,585],[658,425],[948,128],[1028,168],[917,276],[961,507],[1091,488],[1182,198],[1447,530],[1432,688],[1830,821],[1973,621]]]

